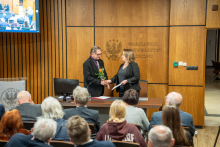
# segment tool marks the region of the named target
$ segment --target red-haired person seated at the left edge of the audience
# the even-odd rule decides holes
[[[16,133],[30,134],[28,130],[23,129],[18,110],[6,111],[0,122],[0,140],[9,140]]]

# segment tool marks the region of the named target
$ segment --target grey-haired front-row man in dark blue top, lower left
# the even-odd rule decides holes
[[[38,118],[30,135],[15,134],[5,147],[52,147],[51,138],[56,133],[57,123],[48,118]]]

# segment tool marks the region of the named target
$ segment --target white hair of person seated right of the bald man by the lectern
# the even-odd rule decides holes
[[[61,106],[60,102],[53,98],[47,97],[41,104],[42,115],[45,118],[51,119],[61,119],[63,118],[64,112],[63,107]]]

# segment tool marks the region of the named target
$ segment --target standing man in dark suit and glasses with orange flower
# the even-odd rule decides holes
[[[88,89],[92,96],[101,96],[104,93],[104,86],[106,82],[98,78],[100,69],[104,69],[104,77],[108,79],[104,62],[100,59],[101,49],[98,46],[93,46],[90,51],[90,57],[83,63],[83,75],[84,75],[84,86]]]

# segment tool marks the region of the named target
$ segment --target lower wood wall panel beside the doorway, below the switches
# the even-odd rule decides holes
[[[172,91],[183,96],[180,109],[193,116],[193,122],[196,126],[204,126],[204,88],[169,86],[169,92]]]

